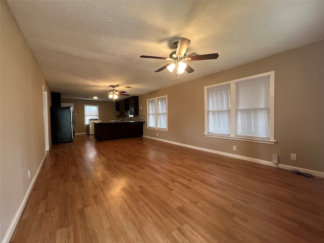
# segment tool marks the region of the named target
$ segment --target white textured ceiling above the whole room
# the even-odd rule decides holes
[[[8,1],[53,92],[86,99],[109,85],[131,96],[177,85],[324,39],[323,1]],[[190,39],[177,80],[171,41]],[[302,57],[301,57],[302,58]],[[131,86],[132,88],[125,88]],[[98,95],[107,100],[106,95]]]

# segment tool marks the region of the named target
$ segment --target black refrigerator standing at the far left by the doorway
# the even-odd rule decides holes
[[[72,107],[51,107],[52,143],[68,143],[74,138]]]

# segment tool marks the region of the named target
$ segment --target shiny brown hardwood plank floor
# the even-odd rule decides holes
[[[10,242],[323,242],[324,181],[147,138],[55,144]]]

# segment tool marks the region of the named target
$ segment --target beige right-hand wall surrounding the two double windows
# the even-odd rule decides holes
[[[221,61],[222,54],[217,59],[217,62]],[[275,71],[276,144],[203,135],[204,86],[272,70]],[[272,154],[278,154],[281,164],[324,172],[324,153],[321,151],[324,148],[323,82],[324,41],[320,41],[140,96],[139,104],[143,105],[143,114],[147,116],[146,100],[168,95],[169,131],[145,128],[144,135],[157,137],[158,133],[160,139],[266,161],[272,161]],[[307,129],[304,126],[308,126]],[[232,150],[232,145],[236,145],[236,151]],[[290,160],[290,153],[297,154],[296,161]]]

